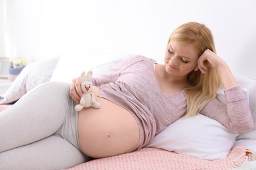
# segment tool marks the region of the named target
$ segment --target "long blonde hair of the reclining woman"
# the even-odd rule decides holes
[[[211,31],[205,25],[197,22],[188,22],[177,27],[171,34],[169,41],[187,42],[194,45],[198,57],[207,48],[216,53]],[[209,101],[216,97],[220,87],[221,76],[217,69],[207,67],[205,74],[200,70],[193,70],[188,73],[188,84],[184,88],[188,107],[184,117],[198,114]]]

